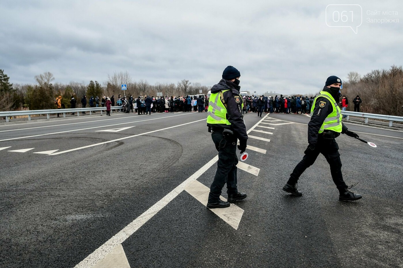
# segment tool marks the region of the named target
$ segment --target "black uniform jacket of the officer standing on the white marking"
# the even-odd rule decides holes
[[[243,122],[242,115],[242,98],[239,96],[240,87],[230,80],[221,79],[217,85],[214,85],[211,89],[211,93],[218,93],[221,90],[227,90],[224,92],[224,101],[227,105],[227,120],[231,125],[226,124],[207,124],[212,128],[228,128],[231,129],[239,140],[247,140],[248,134],[246,134],[246,126]],[[214,101],[210,99],[210,101]]]

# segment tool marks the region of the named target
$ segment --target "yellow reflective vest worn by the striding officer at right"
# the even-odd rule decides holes
[[[314,103],[312,103],[311,107],[311,117],[314,113],[314,108],[315,108],[315,103],[318,97],[325,97],[330,101],[330,103],[333,103],[333,111],[325,118],[322,126],[320,126],[319,133],[322,133],[324,130],[332,130],[334,132],[341,132],[342,126],[341,126],[341,111],[339,108],[339,105],[337,102],[334,100],[332,95],[326,91],[320,91],[320,95],[316,96],[314,99]]]

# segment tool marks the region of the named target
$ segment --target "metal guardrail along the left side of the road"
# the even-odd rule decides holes
[[[137,108],[137,107],[136,107]],[[123,109],[123,106],[113,106],[110,109]],[[28,115],[28,120],[31,120],[31,115],[46,114],[46,118],[50,118],[52,113],[62,113],[63,117],[66,117],[66,113],[77,113],[77,116],[81,112],[89,111],[91,115],[94,111],[106,111],[106,107],[93,107],[93,108],[74,108],[74,109],[48,109],[48,110],[27,110],[27,111],[0,111],[0,118],[5,117],[6,122],[10,122],[10,117],[17,115]]]

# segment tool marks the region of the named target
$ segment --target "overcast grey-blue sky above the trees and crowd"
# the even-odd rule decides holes
[[[401,2],[2,0],[0,69],[19,84],[43,72],[54,82],[102,83],[127,71],[150,84],[211,87],[232,65],[241,90],[315,93],[330,75],[402,65]],[[328,4],[361,6],[357,34],[326,25]],[[357,23],[357,6],[337,8]]]

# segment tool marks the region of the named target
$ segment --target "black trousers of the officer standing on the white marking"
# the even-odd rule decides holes
[[[210,187],[208,202],[217,202],[225,183],[228,194],[236,194],[237,190],[237,137],[222,132],[212,132],[211,138],[218,151],[217,171]]]

